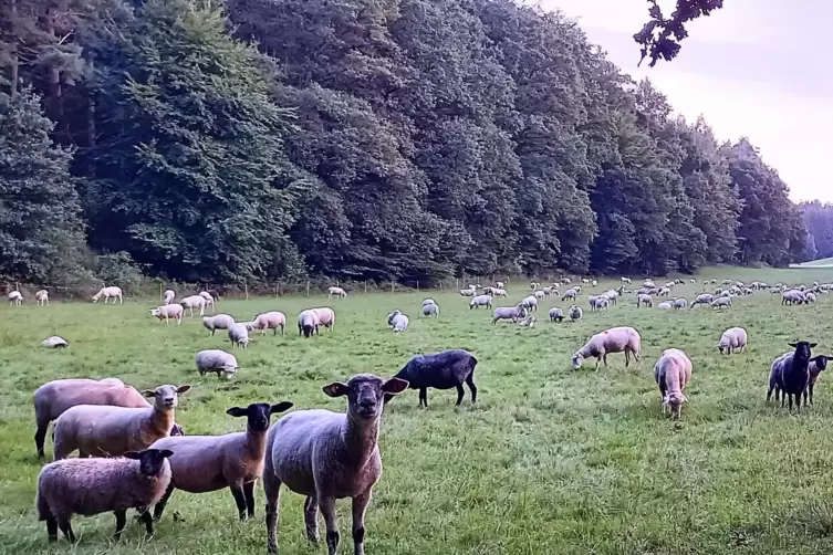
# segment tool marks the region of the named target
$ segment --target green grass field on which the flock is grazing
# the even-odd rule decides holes
[[[712,269],[702,278],[804,283],[833,280],[833,270]],[[593,291],[602,291],[603,282]],[[527,294],[510,287],[510,300]],[[564,287],[562,287],[564,289]],[[586,306],[585,289],[581,304]],[[678,291],[691,300],[700,286]],[[303,339],[254,336],[236,354],[242,368],[231,381],[200,378],[194,354],[227,348],[198,318],[166,327],[150,318],[153,302],[123,306],[60,304],[39,308],[31,300],[0,306],[0,551],[8,554],[265,553],[263,496],[257,519],[239,523],[230,493],[176,492],[153,538],[128,523],[112,543],[114,517],[76,516],[77,547],[46,543],[33,500],[41,464],[34,455],[32,391],[61,377],[117,376],[139,388],[191,384],[177,421],[188,434],[241,430],[243,419],[225,413],[257,400],[291,400],[296,409],[343,410],[321,387],[360,371],[389,376],[410,356],[460,347],[479,359],[478,404],[468,392],[454,407],[454,391],[430,391],[429,408],[416,391],[388,405],[382,423],[385,470],[367,514],[368,554],[769,554],[826,553],[833,547],[833,389],[829,376],[815,406],[800,416],[764,402],[770,362],[796,338],[818,341],[815,353],[833,354],[833,297],[815,305],[782,307],[759,293],[736,300],[732,311],[637,310],[621,302],[607,313],[585,308],[577,324],[550,324],[546,300],[533,329],[492,327],[490,313],[469,311],[467,300],[430,292],[439,320],[418,317],[426,293],[223,300],[221,312],[248,318],[265,310],[294,316],[304,307],[332,305],[333,333]],[[410,316],[395,336],[385,315]],[[633,325],[643,337],[643,362],[625,370],[621,355],[595,374],[592,363],[570,367],[570,355],[593,333]],[[741,325],[748,352],[721,357],[721,332]],[[49,335],[66,350],[39,346]],[[668,347],[684,348],[695,365],[683,419],[660,415],[653,365]],[[48,459],[51,460],[51,439]],[[305,543],[303,499],[283,496],[279,546],[284,554],[326,553]],[[339,503],[342,545],[352,553],[348,503]],[[176,513],[176,514],[175,514]]]

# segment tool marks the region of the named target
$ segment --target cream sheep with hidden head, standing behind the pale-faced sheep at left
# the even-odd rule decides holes
[[[104,379],[54,379],[43,384],[34,390],[34,421],[38,430],[34,433],[34,446],[38,458],[44,455],[43,443],[52,420],[58,419],[67,409],[76,405],[110,405],[127,408],[148,408],[147,399],[131,386],[126,386],[118,378]],[[181,434],[183,428],[176,423],[171,427],[171,434]]]

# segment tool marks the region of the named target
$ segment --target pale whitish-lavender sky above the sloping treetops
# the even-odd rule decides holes
[[[833,1],[725,0],[687,25],[671,62],[637,67],[633,34],[648,21],[646,0],[539,0],[575,18],[591,42],[635,80],[649,77],[675,111],[702,114],[718,139],[741,136],[760,148],[793,201],[833,202],[820,170],[833,155]],[[660,0],[669,15],[673,0]]]

